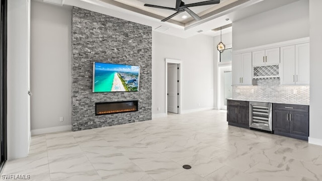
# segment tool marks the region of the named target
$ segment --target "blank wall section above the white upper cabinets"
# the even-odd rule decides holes
[[[308,0],[232,23],[234,50],[309,36]]]

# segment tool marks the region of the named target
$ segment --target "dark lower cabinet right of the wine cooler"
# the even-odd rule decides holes
[[[273,104],[274,134],[308,140],[309,107],[302,105]]]

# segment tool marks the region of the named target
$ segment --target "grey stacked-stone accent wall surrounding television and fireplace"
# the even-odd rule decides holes
[[[140,66],[139,92],[92,93],[93,62]],[[151,27],[74,7],[72,130],[151,120]],[[95,116],[96,102],[138,100],[138,112]]]

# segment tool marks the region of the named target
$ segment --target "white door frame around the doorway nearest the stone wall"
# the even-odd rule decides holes
[[[168,115],[168,63],[175,63],[178,64],[179,70],[178,70],[178,79],[179,79],[179,83],[178,83],[178,114],[181,114],[181,77],[182,77],[182,61],[181,60],[176,60],[176,59],[170,59],[170,58],[166,58],[165,59],[165,67],[166,67],[166,94],[165,94],[165,103],[166,103],[166,115]]]

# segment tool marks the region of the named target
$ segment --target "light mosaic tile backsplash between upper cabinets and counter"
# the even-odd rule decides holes
[[[233,85],[232,98],[309,105],[309,88],[309,85],[280,85],[280,79],[260,79],[254,86]]]

